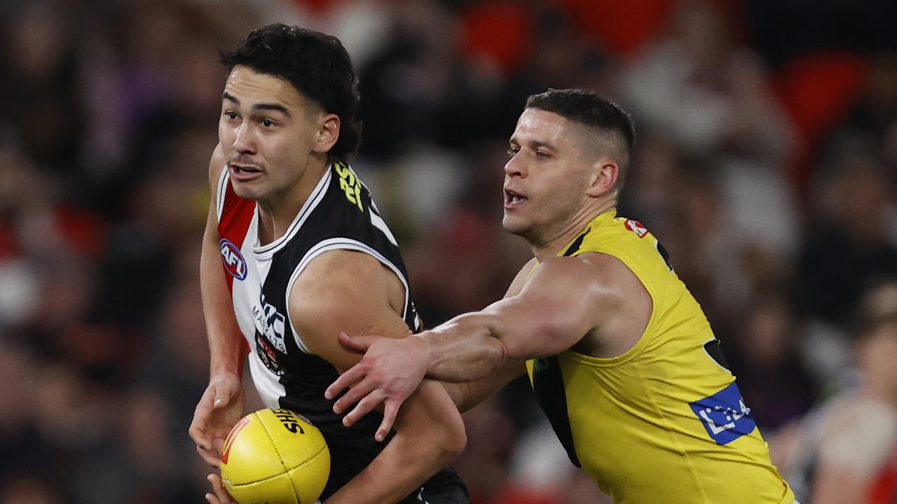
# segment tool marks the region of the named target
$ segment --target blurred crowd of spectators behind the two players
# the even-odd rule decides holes
[[[855,502],[897,502],[895,11],[0,1],[0,504],[203,499],[187,426],[208,377],[198,264],[217,50],[269,22],[332,33],[353,56],[353,166],[399,238],[427,326],[500,298],[527,259],[500,225],[527,95],[618,101],[637,125],[619,213],[669,250],[801,501],[830,501],[825,471],[855,484],[836,485]],[[457,468],[477,504],[607,502],[527,383],[466,424]]]

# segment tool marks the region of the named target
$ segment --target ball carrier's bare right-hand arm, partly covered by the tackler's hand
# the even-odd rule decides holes
[[[339,371],[360,357],[339,343],[341,331],[391,337],[411,333],[398,315],[405,304],[398,277],[359,252],[329,251],[312,260],[293,285],[289,303],[303,342]],[[460,414],[445,389],[427,380],[398,413],[396,435],[387,447],[327,504],[401,500],[448,465],[465,444]]]

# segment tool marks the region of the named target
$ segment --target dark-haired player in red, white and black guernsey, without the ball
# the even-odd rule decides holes
[[[402,337],[420,328],[396,239],[346,163],[360,139],[348,54],[334,37],[276,24],[249,33],[222,63],[230,73],[201,261],[211,378],[189,430],[197,450],[217,466],[245,413],[248,350],[266,406],[300,413],[327,439],[321,500],[469,502],[447,466],[466,444],[464,424],[440,383],[424,384],[382,441],[374,439],[381,415],[347,428],[324,397],[360,357],[340,332]],[[231,502],[220,478],[209,479],[206,499]]]

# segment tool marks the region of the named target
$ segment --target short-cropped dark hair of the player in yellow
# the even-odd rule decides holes
[[[620,134],[626,151],[626,159],[619,161],[622,166],[617,187],[622,186],[635,145],[635,123],[622,107],[592,91],[549,89],[527,98],[527,109],[541,109],[585,126]]]

